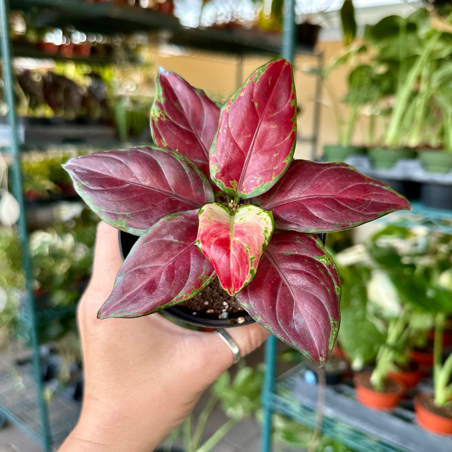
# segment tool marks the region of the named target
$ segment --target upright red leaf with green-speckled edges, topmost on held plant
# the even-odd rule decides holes
[[[273,61],[257,69],[221,108],[210,176],[234,196],[257,196],[290,164],[295,137],[292,68],[286,60]]]

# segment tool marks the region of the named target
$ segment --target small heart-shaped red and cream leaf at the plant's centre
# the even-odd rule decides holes
[[[212,202],[199,210],[196,245],[231,296],[254,278],[273,226],[272,213],[251,204],[231,212],[227,206]]]

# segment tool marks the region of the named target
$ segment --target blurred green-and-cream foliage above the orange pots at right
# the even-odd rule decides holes
[[[402,360],[407,349],[425,343],[437,312],[450,313],[451,246],[448,234],[389,225],[337,253],[343,288],[338,343],[355,368],[375,363],[394,322],[406,322],[391,344],[398,352],[392,358]]]

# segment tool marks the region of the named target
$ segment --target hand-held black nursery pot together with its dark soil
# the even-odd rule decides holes
[[[123,260],[138,240],[138,236],[119,231],[119,246]],[[218,312],[211,309],[217,306]],[[228,306],[225,308],[224,306]],[[199,308],[200,307],[200,308]],[[223,311],[223,309],[225,309]],[[215,278],[205,289],[192,299],[160,311],[176,323],[192,328],[215,329],[254,323],[253,317],[246,312],[234,298],[230,297]],[[225,314],[226,313],[226,314]]]

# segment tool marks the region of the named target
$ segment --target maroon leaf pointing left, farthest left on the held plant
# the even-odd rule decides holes
[[[145,233],[170,213],[213,200],[207,178],[185,157],[156,147],[85,155],[64,165],[75,189],[105,222]]]

